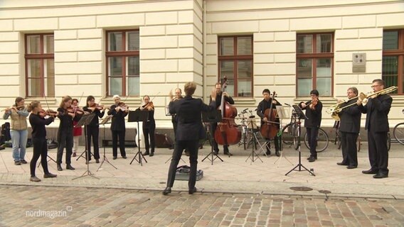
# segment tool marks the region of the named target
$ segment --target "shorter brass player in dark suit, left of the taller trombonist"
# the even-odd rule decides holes
[[[358,98],[355,98],[358,96],[358,89],[356,89],[356,87],[350,87],[346,94],[348,94],[348,101],[339,105],[339,108],[343,108],[339,112],[339,135],[341,136],[343,160],[336,164],[347,165],[346,168],[355,169],[358,167],[358,148],[356,147],[356,140],[361,130],[361,110],[355,105],[358,100]],[[344,106],[349,107],[344,108]]]

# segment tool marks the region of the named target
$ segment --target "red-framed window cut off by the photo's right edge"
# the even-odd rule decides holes
[[[382,79],[385,88],[397,86],[404,93],[404,29],[383,32]]]

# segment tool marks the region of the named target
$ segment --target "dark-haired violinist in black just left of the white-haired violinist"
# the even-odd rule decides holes
[[[88,161],[91,160],[91,138],[92,145],[94,146],[94,158],[96,163],[100,163],[100,148],[98,146],[98,135],[100,135],[100,125],[98,123],[98,118],[102,118],[105,114],[104,106],[95,104],[94,96],[87,96],[86,105],[83,107],[83,111],[89,114],[94,114],[91,122],[85,126],[85,131],[87,133],[87,154]],[[87,159],[86,159],[87,160]]]

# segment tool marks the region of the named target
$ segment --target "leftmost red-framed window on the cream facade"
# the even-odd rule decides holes
[[[26,96],[55,96],[53,34],[25,35]]]

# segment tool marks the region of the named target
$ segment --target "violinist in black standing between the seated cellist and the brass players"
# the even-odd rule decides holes
[[[317,160],[317,134],[321,124],[321,111],[323,104],[319,100],[319,91],[316,89],[310,92],[312,100],[306,103],[301,102],[299,107],[306,110],[306,116],[308,119],[304,120],[304,127],[307,131],[307,140],[309,141],[310,157],[307,158],[309,162]]]

